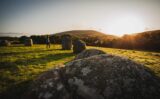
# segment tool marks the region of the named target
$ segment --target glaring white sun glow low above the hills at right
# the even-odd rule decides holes
[[[115,18],[108,27],[108,33],[118,36],[142,32],[145,30],[144,21],[135,15],[124,15]]]

